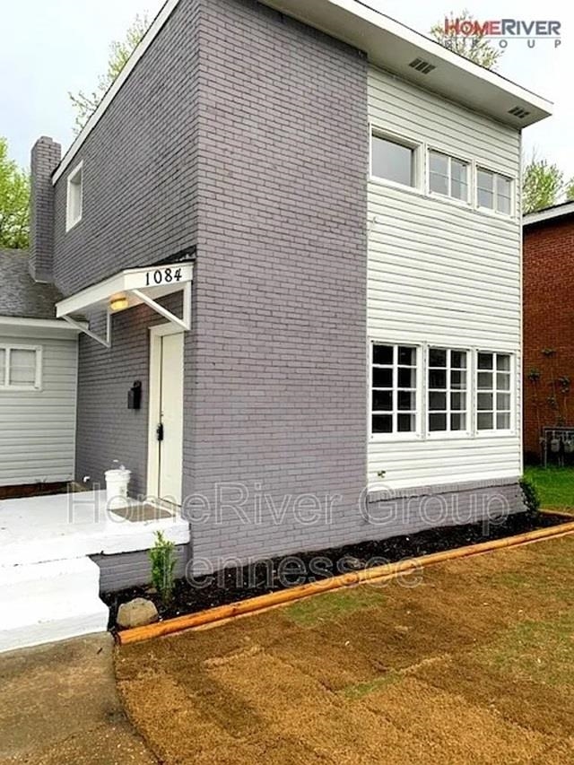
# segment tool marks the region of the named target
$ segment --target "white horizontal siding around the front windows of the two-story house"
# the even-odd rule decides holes
[[[393,75],[370,71],[373,126],[518,179],[520,138]],[[518,200],[516,196],[516,213]],[[520,369],[521,230],[470,205],[370,181],[370,340],[512,352]],[[495,480],[521,473],[517,428],[509,436],[381,440],[369,444],[369,479],[390,488]]]

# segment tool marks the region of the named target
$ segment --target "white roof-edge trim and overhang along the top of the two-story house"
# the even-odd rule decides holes
[[[134,53],[110,86],[98,109],[91,115],[52,176],[56,184],[70,166],[84,141],[98,124],[137,62],[152,45],[170,18],[179,0],[167,0],[143,36]],[[500,74],[484,69],[464,57],[443,48],[436,41],[409,29],[400,22],[370,8],[359,0],[260,0],[281,13],[366,51],[374,65],[390,69],[409,81],[465,103],[477,111],[500,119],[517,128],[526,127],[552,114],[552,102],[520,87]],[[429,75],[411,68],[413,58],[423,56],[436,67]],[[509,109],[528,112],[519,119]]]

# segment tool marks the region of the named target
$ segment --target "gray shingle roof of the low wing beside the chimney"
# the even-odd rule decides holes
[[[56,318],[61,298],[52,284],[34,282],[27,250],[0,249],[0,316]]]

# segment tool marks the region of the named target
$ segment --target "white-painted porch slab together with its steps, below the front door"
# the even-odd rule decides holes
[[[91,556],[145,552],[158,531],[189,542],[177,511],[128,503],[109,510],[105,491],[0,501],[0,652],[107,629]]]

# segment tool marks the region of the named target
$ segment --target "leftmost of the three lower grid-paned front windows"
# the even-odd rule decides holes
[[[416,432],[417,362],[412,345],[372,346],[373,434]]]

